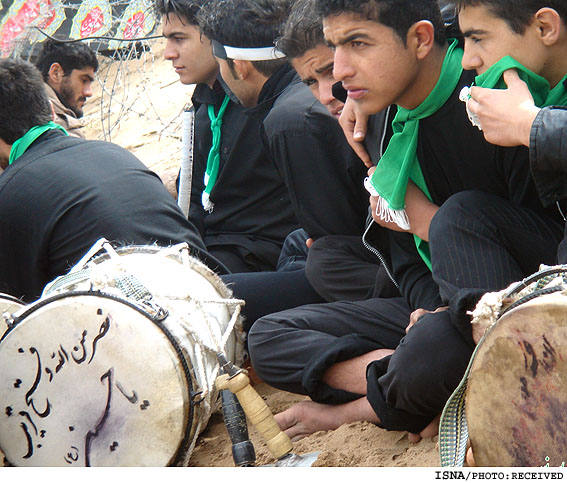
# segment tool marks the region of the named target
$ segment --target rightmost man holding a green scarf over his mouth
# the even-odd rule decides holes
[[[499,76],[498,89],[490,89],[494,86],[483,78],[475,83],[468,108],[479,118],[489,142],[529,147],[532,176],[542,202],[556,204],[565,213],[567,4],[461,0],[458,7],[466,37],[464,67],[476,69],[488,80]],[[502,72],[507,56],[530,69],[529,78],[523,69]],[[559,263],[567,262],[566,245],[565,241],[560,245]]]

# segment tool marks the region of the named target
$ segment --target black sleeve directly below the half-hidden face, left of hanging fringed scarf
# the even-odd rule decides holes
[[[368,196],[364,170],[360,179],[350,174],[362,165],[348,146],[337,123],[322,106],[303,119],[290,116],[275,129],[265,125],[269,153],[286,184],[301,227],[312,238],[360,235],[364,229]]]

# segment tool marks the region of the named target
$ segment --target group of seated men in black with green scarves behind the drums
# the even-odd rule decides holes
[[[196,84],[188,219],[0,60],[0,291],[33,301],[100,237],[185,241],[246,301],[259,377],[311,398],[276,416],[292,439],[436,434],[480,296],[567,261],[567,5],[442,3],[156,1]]]

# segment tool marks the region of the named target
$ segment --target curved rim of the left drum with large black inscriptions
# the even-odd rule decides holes
[[[185,358],[185,355],[183,354],[183,350],[182,350],[181,346],[179,345],[179,343],[175,340],[175,338],[173,337],[171,332],[167,329],[167,327],[165,327],[163,324],[160,323],[161,320],[163,320],[163,319],[155,319],[148,312],[143,310],[141,307],[133,304],[132,302],[129,302],[125,298],[119,297],[119,296],[114,295],[114,294],[110,294],[110,293],[106,293],[106,292],[100,292],[100,291],[82,290],[82,291],[76,291],[76,292],[63,292],[63,293],[52,295],[50,297],[46,297],[45,299],[40,299],[36,303],[27,307],[26,310],[23,313],[19,314],[17,317],[14,317],[14,323],[4,333],[4,335],[0,338],[0,344],[10,332],[12,332],[21,322],[24,321],[25,318],[29,317],[31,314],[33,314],[34,312],[36,312],[40,308],[45,307],[47,304],[49,304],[51,302],[55,302],[55,301],[60,300],[60,299],[64,299],[64,298],[67,298],[67,297],[79,297],[79,296],[85,296],[85,295],[88,295],[88,296],[94,295],[94,296],[97,296],[97,297],[102,297],[102,298],[114,300],[116,302],[121,302],[121,303],[137,310],[140,314],[147,317],[154,325],[159,327],[159,329],[165,334],[165,336],[167,337],[167,339],[169,340],[169,342],[173,346],[175,352],[177,353],[178,359],[181,363],[181,367],[183,368],[183,374],[185,376],[185,380],[186,380],[186,383],[187,383],[188,394],[189,395],[194,394],[193,380],[192,380],[192,377],[191,377],[191,370],[189,369],[189,366],[187,364],[187,360]],[[174,457],[171,459],[169,466],[178,466],[179,463],[181,463],[183,461],[183,455],[186,454],[186,452],[189,449],[189,446],[191,445],[191,433],[192,433],[192,430],[193,430],[193,419],[195,417],[195,406],[197,404],[198,403],[194,402],[193,399],[191,399],[189,401],[189,414],[187,415],[187,428],[185,429],[185,432],[184,432],[185,434],[183,436],[183,440],[179,444],[179,448],[177,449],[177,452],[175,453]]]

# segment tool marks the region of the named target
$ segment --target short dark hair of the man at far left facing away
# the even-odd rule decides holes
[[[14,144],[34,126],[51,121],[39,71],[21,59],[0,59],[0,138]]]

